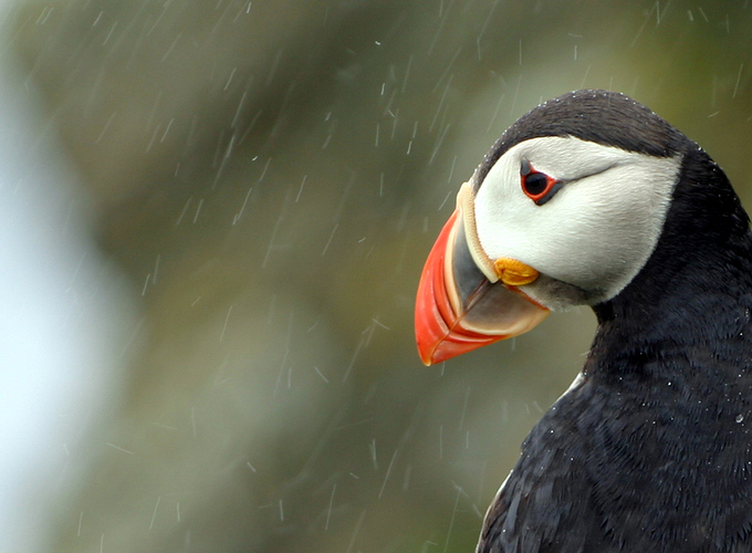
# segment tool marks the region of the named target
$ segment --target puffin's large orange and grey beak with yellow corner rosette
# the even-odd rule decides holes
[[[415,332],[426,365],[523,334],[549,315],[519,288],[534,281],[537,271],[508,258],[488,259],[473,215],[466,182],[418,284]]]

